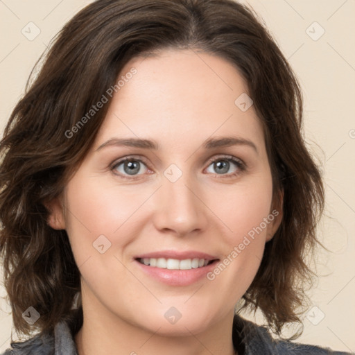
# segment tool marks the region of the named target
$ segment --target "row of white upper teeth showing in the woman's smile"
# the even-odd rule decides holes
[[[191,270],[192,268],[202,268],[207,266],[209,260],[205,259],[165,259],[165,258],[144,258],[139,259],[140,263],[146,266],[153,266],[155,268],[163,268],[168,270]]]

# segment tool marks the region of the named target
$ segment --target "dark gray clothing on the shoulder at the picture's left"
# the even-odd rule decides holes
[[[28,340],[10,343],[1,355],[77,355],[76,345],[67,322],[58,322],[54,334],[36,335]]]

